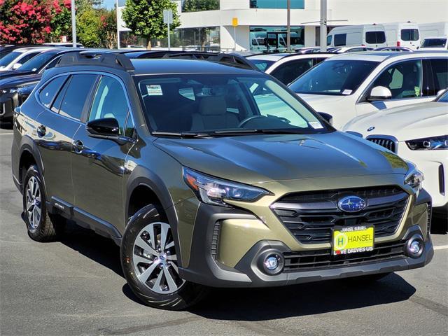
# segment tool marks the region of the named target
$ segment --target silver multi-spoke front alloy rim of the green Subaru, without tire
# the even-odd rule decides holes
[[[172,230],[167,223],[151,223],[140,230],[132,261],[138,279],[155,293],[174,293],[185,283],[179,276]]]

